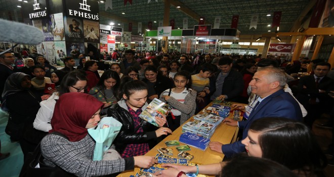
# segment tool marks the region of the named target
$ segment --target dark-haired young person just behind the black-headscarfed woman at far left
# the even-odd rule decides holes
[[[32,86],[41,93],[44,92],[45,84],[51,83],[50,77],[45,77],[43,66],[35,65],[31,67],[31,74],[35,77],[31,79]]]

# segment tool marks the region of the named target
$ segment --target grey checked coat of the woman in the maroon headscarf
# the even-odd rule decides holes
[[[76,176],[101,176],[134,169],[134,158],[93,161],[95,142],[87,135],[78,142],[49,134],[40,143],[44,162]]]

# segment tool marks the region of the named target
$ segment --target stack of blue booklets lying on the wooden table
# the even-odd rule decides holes
[[[210,143],[209,139],[199,137],[195,134],[191,134],[190,132],[185,132],[184,134],[182,134],[180,136],[179,141],[203,151],[207,148],[208,144]]]

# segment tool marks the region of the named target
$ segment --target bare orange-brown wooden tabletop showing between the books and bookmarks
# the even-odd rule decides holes
[[[208,106],[211,106],[212,103],[210,103]],[[206,109],[206,107],[204,109]],[[228,116],[228,118],[232,117],[232,114]],[[186,122],[189,120],[192,120],[193,118],[191,117],[188,119]],[[185,122],[185,123],[186,123]],[[221,123],[216,127],[216,130],[211,137],[212,142],[220,142],[222,144],[230,144],[235,142],[237,134],[238,134],[239,128],[237,126],[229,126],[224,123]],[[164,144],[165,141],[171,141],[171,140],[177,140],[179,141],[180,135],[182,134],[182,125],[177,128],[175,131],[173,131],[172,135],[169,135],[165,139],[163,139],[159,144],[157,144],[154,148],[152,148],[150,151],[148,151],[145,155],[147,156],[155,156],[158,153],[158,149],[166,147]],[[185,145],[184,143],[180,142],[180,146]],[[173,149],[173,157],[178,158],[178,153],[179,151],[175,148],[176,146],[170,147]],[[197,148],[191,147],[190,151],[187,151],[191,155],[194,156],[194,159],[191,161],[194,163],[199,163],[199,164],[211,164],[211,163],[218,163],[221,162],[224,158],[224,154],[212,151],[209,147],[206,148],[205,151],[199,150]],[[137,173],[139,168],[135,168],[135,170],[127,170],[123,171],[117,176],[124,176],[124,177],[129,177],[130,175],[135,175]]]

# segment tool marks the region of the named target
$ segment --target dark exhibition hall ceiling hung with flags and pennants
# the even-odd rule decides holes
[[[296,28],[298,29],[300,24],[311,16],[312,7],[316,3],[315,0],[169,0],[169,2],[171,4],[169,20],[175,20],[175,29],[182,29],[184,18],[188,18],[188,29],[192,29],[194,25],[198,25],[198,17],[204,17],[205,24],[212,25],[216,17],[221,17],[220,28],[230,28],[232,16],[239,15],[237,29],[241,31],[241,35],[269,33],[268,30],[274,32],[275,29],[268,25],[272,24],[273,14],[276,11],[282,12],[279,32],[296,31]],[[11,12],[12,16],[15,13],[21,14],[17,5],[24,5],[18,0],[0,0],[0,4],[2,12],[0,17],[4,19],[9,18],[8,12]],[[123,26],[124,31],[128,31],[129,22],[132,22],[134,34],[138,31],[138,22],[142,22],[145,29],[148,22],[152,21],[152,28],[156,30],[158,22],[164,17],[163,0],[132,0],[132,5],[127,2],[126,6],[124,0],[112,0],[112,9],[105,10],[105,6],[105,3],[99,2],[100,24],[114,23],[113,26]],[[267,16],[268,14],[271,16]],[[249,29],[252,15],[259,15],[257,29]],[[22,21],[20,15],[18,19]]]

